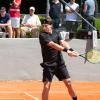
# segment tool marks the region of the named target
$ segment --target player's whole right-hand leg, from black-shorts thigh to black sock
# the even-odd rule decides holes
[[[55,72],[55,75],[57,76],[57,78],[60,81],[64,82],[64,84],[67,87],[68,92],[69,92],[70,96],[73,98],[73,100],[77,100],[77,95],[72,87],[70,75],[66,68],[66,65],[62,64],[61,66],[59,66]]]

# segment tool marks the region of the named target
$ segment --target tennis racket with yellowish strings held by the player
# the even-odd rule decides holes
[[[79,54],[79,56],[84,58],[90,63],[93,63],[93,64],[100,63],[100,50],[98,49],[91,49],[84,54]]]

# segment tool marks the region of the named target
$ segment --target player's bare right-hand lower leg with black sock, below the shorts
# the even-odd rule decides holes
[[[67,87],[68,89],[68,92],[70,94],[70,96],[72,97],[73,100],[77,100],[77,95],[76,95],[76,92],[72,86],[72,83],[71,83],[71,79],[65,79],[63,80],[65,86]]]

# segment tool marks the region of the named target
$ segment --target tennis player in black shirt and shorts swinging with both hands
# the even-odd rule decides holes
[[[43,32],[39,35],[43,63],[43,92],[42,100],[48,100],[49,90],[53,76],[55,75],[60,81],[63,81],[68,88],[72,100],[77,100],[77,95],[72,87],[71,78],[63,60],[61,51],[64,51],[71,57],[77,57],[78,53],[74,51],[67,42],[62,40],[60,34],[53,32],[52,20],[43,21]]]

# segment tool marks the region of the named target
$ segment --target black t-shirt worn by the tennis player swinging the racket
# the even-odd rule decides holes
[[[47,45],[50,41],[60,44],[60,40],[62,40],[60,34],[56,32],[53,32],[52,34],[43,32],[39,35],[39,40],[41,44],[43,63],[48,63],[48,64],[55,62],[56,64],[64,63],[61,52]]]

